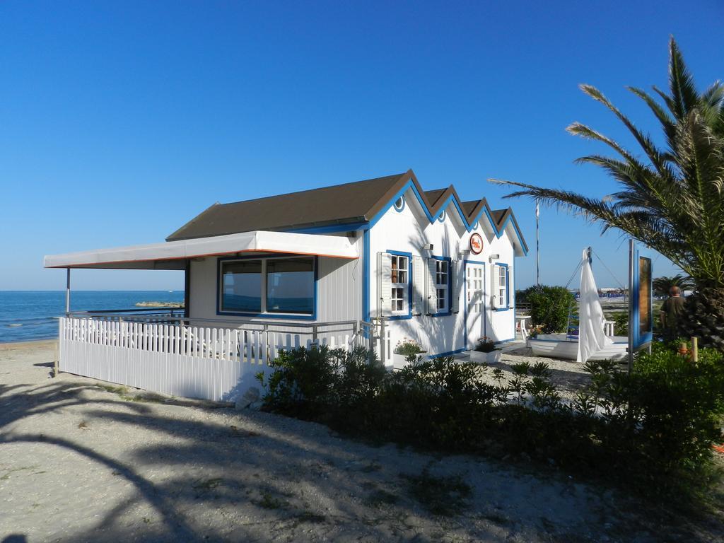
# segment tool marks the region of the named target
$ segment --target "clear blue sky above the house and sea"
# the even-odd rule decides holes
[[[533,206],[501,177],[590,195],[573,121],[631,138],[624,85],[665,86],[675,35],[700,86],[722,77],[721,1],[0,3],[0,290],[64,288],[43,255],[161,241],[214,201],[413,168],[425,188]],[[593,245],[626,280],[626,242],[542,211],[542,281]],[[600,269],[600,266],[599,266]],[[534,282],[534,251],[517,262]],[[596,270],[594,263],[594,271]],[[674,269],[665,258],[654,274]],[[78,271],[80,289],[178,289],[181,274]],[[599,286],[614,281],[601,269]]]

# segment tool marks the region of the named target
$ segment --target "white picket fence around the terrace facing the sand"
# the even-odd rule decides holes
[[[311,345],[308,332],[190,327],[121,319],[59,319],[59,369],[164,394],[233,400],[269,372],[279,349]],[[358,330],[358,329],[357,329]],[[331,348],[360,345],[355,330],[321,332]]]

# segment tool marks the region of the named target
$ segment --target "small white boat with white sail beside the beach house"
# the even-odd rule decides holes
[[[607,336],[605,316],[591,269],[591,248],[581,258],[581,288],[578,290],[578,334],[539,334],[528,345],[538,356],[588,360],[622,360],[628,353],[628,337]],[[575,273],[575,272],[574,272]]]

